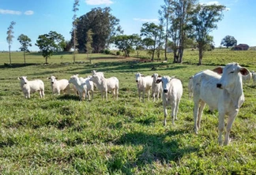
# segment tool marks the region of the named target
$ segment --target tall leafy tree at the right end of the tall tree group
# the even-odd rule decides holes
[[[204,47],[209,43],[209,32],[217,28],[216,23],[222,20],[224,9],[225,6],[222,5],[207,6],[201,4],[198,4],[194,9],[191,26],[194,29],[192,35],[198,43],[198,65],[201,65]]]

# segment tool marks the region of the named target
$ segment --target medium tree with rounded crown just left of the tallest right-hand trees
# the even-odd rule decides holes
[[[161,25],[156,25],[154,23],[144,23],[141,28],[141,36],[145,36],[143,43],[152,52],[151,60],[154,60],[154,54],[156,47],[160,42],[161,35],[163,34],[163,27]]]

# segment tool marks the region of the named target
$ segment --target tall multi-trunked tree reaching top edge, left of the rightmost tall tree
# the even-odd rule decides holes
[[[174,62],[183,62],[183,52],[188,39],[191,11],[198,0],[170,0],[170,35],[173,41]]]

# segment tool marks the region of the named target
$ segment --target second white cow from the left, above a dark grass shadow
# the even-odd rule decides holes
[[[60,95],[61,91],[65,91],[67,94],[70,94],[69,80],[58,80],[55,76],[48,77],[48,79],[51,80],[51,91],[53,94],[58,93],[58,95]]]

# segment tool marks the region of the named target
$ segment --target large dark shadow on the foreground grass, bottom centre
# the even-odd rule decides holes
[[[175,136],[184,133],[187,133],[185,129],[169,131],[165,134],[126,133],[119,140],[115,140],[116,145],[142,146],[143,149],[137,153],[135,161],[132,162],[129,162],[128,158],[123,159],[122,155],[114,155],[112,159],[108,160],[107,167],[111,172],[121,170],[122,173],[131,174],[135,166],[138,169],[143,169],[146,165],[154,162],[179,162],[184,155],[198,151],[198,147],[180,147],[179,137]]]

